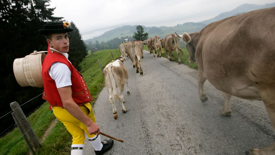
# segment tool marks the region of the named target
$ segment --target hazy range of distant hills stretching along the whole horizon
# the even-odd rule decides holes
[[[231,11],[223,12],[212,19],[205,20],[205,21],[198,22],[198,23],[189,22],[189,23],[184,23],[184,24],[177,24],[176,26],[172,26],[172,27],[167,27],[167,26],[160,26],[160,27],[142,26],[142,27],[144,28],[144,32],[148,33],[149,38],[151,38],[152,36],[155,36],[155,35],[160,36],[160,38],[164,38],[167,34],[171,34],[174,32],[177,32],[178,34],[182,34],[183,32],[187,32],[187,33],[199,32],[206,25],[208,25],[212,22],[216,22],[216,21],[222,20],[227,17],[231,17],[234,15],[239,15],[241,13],[245,13],[245,12],[249,12],[249,11],[253,11],[253,10],[257,10],[257,9],[263,9],[263,8],[267,8],[267,7],[275,7],[275,3],[267,3],[265,5],[242,4]],[[102,41],[107,42],[109,40],[112,40],[113,38],[133,36],[133,33],[137,31],[136,26],[137,25],[134,25],[134,26],[127,25],[127,26],[115,28],[113,30],[109,30],[109,31],[105,32],[101,36],[97,36],[92,39],[84,40],[84,42],[86,44],[89,42],[95,43],[95,41],[98,40],[100,43]]]

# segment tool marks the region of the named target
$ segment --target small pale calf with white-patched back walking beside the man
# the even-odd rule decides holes
[[[106,67],[103,70],[103,77],[105,80],[105,85],[106,85],[107,91],[109,93],[109,100],[113,107],[114,119],[117,119],[117,108],[115,107],[115,102],[117,101],[117,98],[119,99],[119,102],[120,102],[121,111],[123,113],[127,112],[127,110],[123,104],[124,84],[126,84],[127,94],[130,94],[130,91],[128,88],[129,76],[128,76],[127,69],[123,63],[123,61],[125,61],[125,59],[126,59],[125,57],[123,57],[123,58],[119,57],[116,59],[116,61],[106,65]],[[117,94],[116,89],[118,89],[118,94]]]

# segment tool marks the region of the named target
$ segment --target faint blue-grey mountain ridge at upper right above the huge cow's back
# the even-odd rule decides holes
[[[267,8],[267,7],[275,7],[275,3],[267,3],[265,5],[242,4],[242,5],[236,7],[235,9],[233,9],[231,11],[223,12],[223,13],[217,15],[216,17],[214,17],[212,19],[209,19],[209,20],[204,20],[201,23],[208,25],[212,22],[223,20],[227,17],[239,15],[239,14],[249,12],[249,11],[253,11],[253,10],[264,9],[264,8]]]

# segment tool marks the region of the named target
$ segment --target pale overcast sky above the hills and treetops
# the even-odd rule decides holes
[[[241,4],[274,0],[51,0],[55,17],[74,22],[83,40],[124,25],[176,26],[200,22]]]

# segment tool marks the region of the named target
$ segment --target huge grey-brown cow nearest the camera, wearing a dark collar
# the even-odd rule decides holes
[[[275,7],[259,9],[213,22],[200,32],[180,37],[199,67],[199,96],[207,100],[207,79],[223,92],[222,115],[231,115],[231,95],[263,100],[275,128]],[[247,152],[248,153],[248,152]],[[251,155],[275,154],[275,143],[250,149]]]

